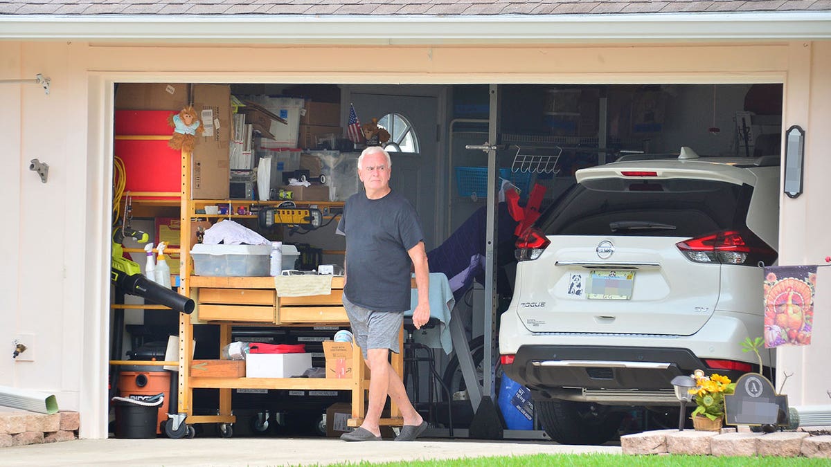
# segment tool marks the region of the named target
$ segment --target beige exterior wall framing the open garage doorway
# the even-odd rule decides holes
[[[367,57],[376,57],[369,65]],[[780,258],[818,263],[831,253],[831,221],[817,215],[831,194],[831,43],[517,47],[251,47],[0,42],[0,194],[5,252],[0,281],[0,385],[57,394],[81,410],[82,437],[106,436],[111,89],[116,81],[336,83],[786,83],[784,125],[802,125],[805,194],[782,204]],[[50,165],[42,184],[28,170]],[[829,307],[820,309],[827,312]],[[3,345],[35,334],[35,361]],[[827,355],[814,345],[784,363]],[[784,353],[784,352],[783,352]],[[807,373],[804,371],[804,373]],[[824,395],[831,376],[791,385],[797,399]],[[792,403],[794,396],[791,398]]]

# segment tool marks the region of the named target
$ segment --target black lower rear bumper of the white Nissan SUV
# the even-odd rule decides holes
[[[672,378],[708,370],[692,351],[671,347],[521,346],[503,365],[538,399],[676,405]],[[736,381],[740,371],[715,370]]]

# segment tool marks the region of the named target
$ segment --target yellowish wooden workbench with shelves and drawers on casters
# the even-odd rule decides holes
[[[182,167],[190,167],[190,154],[182,152]],[[181,244],[189,245],[191,235],[190,221],[199,218],[253,218],[253,215],[239,214],[197,214],[197,209],[206,205],[231,204],[248,207],[251,204],[275,206],[282,201],[251,201],[241,199],[190,199],[190,173],[182,171],[182,192],[179,199]],[[295,201],[300,206],[317,205],[318,209],[341,208],[342,202]],[[181,248],[179,257],[179,293],[192,297],[196,310],[191,315],[179,315],[179,414],[186,415],[184,423],[216,423],[220,434],[229,435],[229,424],[236,421],[232,414],[231,390],[245,389],[305,389],[352,391],[352,418],[349,425],[361,424],[366,411],[365,391],[369,389],[364,365],[355,364],[356,371],[348,379],[332,378],[247,378],[247,377],[208,377],[194,376],[190,373],[190,356],[193,354],[192,342],[194,325],[213,324],[219,326],[219,347],[231,342],[231,330],[235,325],[269,325],[278,327],[311,327],[315,325],[348,325],[346,311],[341,297],[343,278],[332,278],[332,292],[329,295],[313,297],[277,297],[274,278],[236,278],[194,276],[190,261],[189,248]],[[400,340],[403,341],[403,332]],[[403,347],[402,347],[403,348]],[[358,347],[353,349],[353,361],[362,362],[363,357]],[[401,375],[403,361],[401,354],[394,354],[393,367]],[[219,413],[217,415],[194,415],[194,388],[219,389]],[[401,425],[396,407],[392,409],[393,417],[383,420],[386,425]]]

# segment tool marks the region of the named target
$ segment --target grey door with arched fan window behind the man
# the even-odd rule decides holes
[[[443,240],[437,238],[436,232],[441,226],[437,225],[440,219],[435,215],[436,192],[443,186],[436,182],[439,165],[437,98],[352,92],[350,101],[361,123],[369,122],[372,117],[381,120],[386,115],[398,114],[412,126],[418,152],[396,152],[387,147],[392,160],[390,186],[409,199],[418,211],[427,250],[437,247]]]

